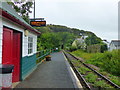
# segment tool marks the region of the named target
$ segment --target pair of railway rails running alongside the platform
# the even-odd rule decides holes
[[[79,58],[77,58],[76,56],[72,55],[71,53],[69,53],[68,51],[63,51],[64,55],[66,56],[66,58],[68,59],[71,67],[73,68],[74,72],[76,73],[78,79],[80,80],[82,86],[84,89],[87,90],[93,90],[93,86],[86,81],[85,77],[83,74],[81,74],[81,72],[78,70],[78,68],[73,64],[72,60],[77,60],[80,61],[80,63],[88,68],[90,70],[90,73],[94,73],[95,75],[97,75],[99,77],[100,80],[104,80],[107,84],[109,84],[111,87],[116,88],[116,89],[120,89],[120,87],[118,85],[116,85],[115,83],[113,83],[112,81],[110,81],[108,78],[106,78],[105,76],[103,76],[102,74],[100,74],[99,72],[97,72],[96,70],[94,70],[93,68],[91,68],[90,66],[88,66],[87,64],[85,64],[83,61],[81,61]],[[101,87],[98,87],[98,89],[101,89]]]

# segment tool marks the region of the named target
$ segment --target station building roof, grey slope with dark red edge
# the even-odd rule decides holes
[[[0,12],[2,12],[2,16],[25,27],[27,30],[34,32],[36,34],[40,34],[39,31],[34,29],[30,24],[28,24],[23,18],[21,18],[16,11],[6,2],[0,2]],[[1,13],[0,13],[1,15]]]

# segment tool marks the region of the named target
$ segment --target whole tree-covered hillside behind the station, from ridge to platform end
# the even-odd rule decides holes
[[[99,44],[102,40],[94,33],[76,28],[69,28],[61,25],[47,25],[46,27],[35,27],[42,34],[38,37],[38,50],[47,48],[71,48],[73,41],[80,38],[80,34],[89,36],[87,41],[89,45]],[[89,42],[89,39],[92,42]]]

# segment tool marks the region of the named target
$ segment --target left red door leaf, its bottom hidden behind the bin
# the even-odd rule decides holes
[[[12,64],[13,31],[3,28],[2,63]]]

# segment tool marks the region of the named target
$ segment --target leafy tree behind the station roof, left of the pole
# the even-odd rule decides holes
[[[33,2],[7,2],[12,5],[12,7],[16,10],[16,12],[29,23],[29,13],[32,13],[30,9],[32,8]]]

